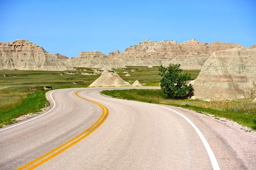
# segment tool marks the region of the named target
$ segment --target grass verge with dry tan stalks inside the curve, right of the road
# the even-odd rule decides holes
[[[199,101],[199,100],[172,100],[167,99],[162,90],[156,89],[130,89],[102,91],[102,94],[134,101],[142,101],[154,104],[166,104],[183,107],[199,113],[212,114],[216,117],[227,118],[239,124],[253,128],[253,120],[256,118],[256,104],[252,99],[239,101]]]

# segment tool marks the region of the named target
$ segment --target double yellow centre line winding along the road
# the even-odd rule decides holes
[[[92,100],[89,100],[87,98],[81,97],[80,95],[78,95],[78,93],[81,92],[81,91],[85,91],[85,90],[77,91],[75,93],[76,96],[78,96],[79,98],[82,98],[82,99],[84,99],[86,101],[90,101],[90,102],[92,102],[94,104],[97,104],[99,107],[102,108],[102,115],[100,116],[100,118],[91,127],[89,127],[87,130],[85,130],[83,133],[79,134],[78,136],[76,136],[75,138],[71,139],[70,141],[67,141],[66,143],[62,144],[61,146],[55,148],[54,150],[50,151],[49,153],[46,153],[43,156],[35,159],[34,161],[31,161],[31,162],[23,165],[22,167],[19,167],[17,170],[22,170],[22,169],[27,168],[27,167],[28,167],[27,170],[32,170],[32,169],[40,166],[41,164],[44,164],[44,162],[50,160],[51,158],[57,156],[58,154],[64,152],[68,148],[72,147],[73,145],[75,145],[76,143],[81,141],[82,139],[86,138],[88,135],[93,133],[93,131],[96,130],[100,125],[102,125],[102,123],[108,117],[108,108],[105,107],[102,104],[97,103],[96,101],[92,101]]]

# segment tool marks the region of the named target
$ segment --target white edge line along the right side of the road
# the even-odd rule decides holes
[[[101,93],[98,93],[98,95],[101,95]],[[101,96],[105,97],[103,95],[101,95]],[[105,98],[107,98],[107,97],[105,97]],[[131,101],[131,102],[138,102],[138,101]],[[148,104],[148,103],[144,103],[144,102],[140,102],[140,103]],[[218,166],[217,159],[215,158],[214,153],[212,152],[212,149],[211,149],[210,145],[208,144],[207,140],[204,138],[204,135],[201,133],[201,131],[195,126],[195,124],[189,118],[187,118],[186,116],[182,115],[181,113],[179,113],[179,112],[177,112],[173,109],[169,109],[167,107],[159,106],[159,105],[156,105],[156,104],[148,104],[148,105],[154,105],[154,106],[157,106],[157,107],[162,107],[162,108],[168,109],[172,112],[177,113],[178,115],[183,117],[187,122],[189,122],[189,124],[195,129],[195,131],[198,133],[201,141],[203,142],[204,147],[205,147],[205,149],[208,153],[208,156],[210,158],[210,161],[212,163],[213,170],[220,170],[220,167]]]

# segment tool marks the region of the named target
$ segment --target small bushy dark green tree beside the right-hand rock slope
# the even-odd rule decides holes
[[[194,89],[187,82],[191,80],[191,75],[181,74],[180,64],[169,64],[169,67],[162,66],[158,69],[159,75],[162,76],[160,81],[161,89],[168,98],[186,99],[194,95]]]

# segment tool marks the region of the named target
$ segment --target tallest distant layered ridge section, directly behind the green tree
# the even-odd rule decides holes
[[[240,45],[218,42],[203,44],[195,39],[181,44],[173,40],[145,40],[126,48],[124,53],[115,53],[111,56],[115,59],[121,58],[126,66],[168,66],[169,63],[178,63],[182,69],[201,69],[212,52],[238,46]]]

